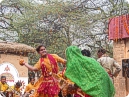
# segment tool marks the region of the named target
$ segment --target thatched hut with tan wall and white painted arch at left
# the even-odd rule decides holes
[[[19,59],[28,62],[28,53],[34,52],[35,49],[28,45],[0,40],[0,76],[5,75],[9,85],[21,81],[24,89],[28,84],[28,69],[19,65]]]

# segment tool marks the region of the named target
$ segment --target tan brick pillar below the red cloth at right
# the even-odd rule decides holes
[[[127,43],[128,40],[122,40],[114,42],[113,44],[113,57],[122,67],[122,59],[127,58]],[[114,78],[114,85],[116,89],[115,97],[125,97],[126,96],[126,84],[125,78],[122,77],[122,71],[117,78]]]

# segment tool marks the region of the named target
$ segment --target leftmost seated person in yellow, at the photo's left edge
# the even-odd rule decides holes
[[[1,76],[1,82],[0,82],[0,91],[6,92],[8,90],[8,85],[6,84],[6,76]]]

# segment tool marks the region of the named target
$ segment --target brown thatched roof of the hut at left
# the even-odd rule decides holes
[[[28,54],[28,53],[34,53],[35,49],[26,44],[0,40],[0,52],[1,53]]]

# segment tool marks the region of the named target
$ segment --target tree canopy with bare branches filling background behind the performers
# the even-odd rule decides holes
[[[5,35],[1,39],[32,47],[44,44],[49,53],[63,58],[65,49],[73,44],[89,48],[95,58],[96,51],[101,47],[112,55],[112,42],[108,41],[106,33],[107,22],[110,17],[124,14],[123,2],[105,0],[99,5],[97,0],[46,2],[4,0],[1,6],[12,8],[13,11],[1,14],[4,23],[8,23],[7,27],[1,26],[3,30],[0,33]],[[128,9],[128,5],[125,6]],[[14,32],[17,34],[14,35]],[[13,39],[10,40],[10,37]],[[38,58],[38,54],[29,54],[30,64],[34,64]]]

